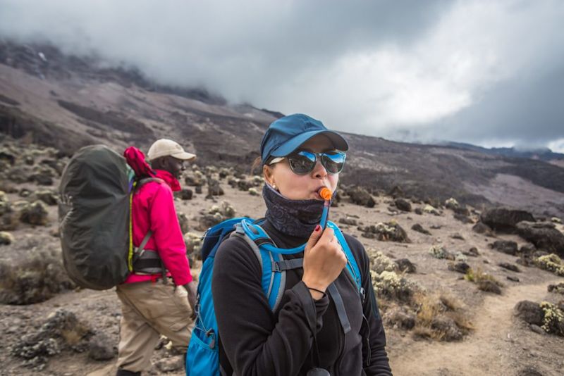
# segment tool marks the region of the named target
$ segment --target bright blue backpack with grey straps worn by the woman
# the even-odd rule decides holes
[[[286,289],[286,270],[302,268],[303,258],[284,260],[283,255],[302,252],[305,244],[293,249],[277,248],[269,235],[250,218],[232,218],[225,220],[207,230],[202,242],[202,272],[197,287],[197,318],[186,356],[186,375],[219,376],[219,346],[216,313],[212,296],[212,276],[214,259],[219,245],[229,236],[238,236],[247,242],[255,252],[262,265],[262,290],[274,312],[278,308],[283,292]],[[364,302],[364,289],[361,275],[353,253],[345,241],[345,237],[338,226],[331,221],[327,227],[332,228],[341,248],[347,256],[346,270],[353,280],[358,293]],[[334,284],[330,284],[327,292],[336,303],[339,320],[343,331],[350,330],[350,323],[345,313],[343,299],[341,299]]]

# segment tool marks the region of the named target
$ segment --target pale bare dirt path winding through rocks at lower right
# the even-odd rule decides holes
[[[513,308],[522,300],[539,301],[546,295],[547,280],[508,287],[502,296],[488,295],[474,316],[474,332],[458,343],[415,341],[391,365],[396,375],[514,375],[512,364]]]

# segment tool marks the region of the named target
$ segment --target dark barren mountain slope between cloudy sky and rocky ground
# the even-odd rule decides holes
[[[147,150],[154,139],[169,137],[195,151],[197,163],[248,171],[264,130],[280,116],[227,104],[205,89],[155,84],[95,57],[0,40],[0,133],[66,154],[92,143]],[[344,184],[374,193],[398,185],[420,199],[453,196],[474,206],[504,203],[564,215],[564,168],[556,163],[344,134],[351,146]]]

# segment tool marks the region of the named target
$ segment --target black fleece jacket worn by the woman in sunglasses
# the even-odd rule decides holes
[[[307,241],[278,232],[268,222],[262,227],[281,248],[293,248]],[[335,303],[329,296],[312,299],[301,282],[302,268],[286,272],[286,292],[273,313],[262,291],[261,265],[250,246],[239,237],[221,244],[214,262],[212,293],[221,344],[220,363],[228,375],[231,368],[238,376],[306,375],[314,367],[325,368],[331,375],[391,375],[367,254],[357,239],[346,234],[345,239],[357,261],[367,295],[362,304],[345,271],[334,282],[352,327],[348,334],[343,333]],[[301,258],[303,253],[289,257]],[[369,346],[362,344],[363,315],[369,327],[369,334],[364,336]],[[312,346],[314,331],[319,359]]]

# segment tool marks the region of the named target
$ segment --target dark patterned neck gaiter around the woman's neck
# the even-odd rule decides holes
[[[309,237],[321,220],[321,200],[286,199],[269,184],[264,184],[262,196],[266,203],[266,220],[283,234]]]

